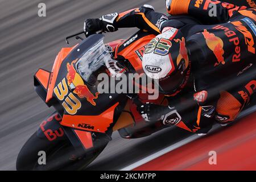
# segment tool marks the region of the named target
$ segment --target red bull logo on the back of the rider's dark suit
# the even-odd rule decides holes
[[[219,38],[218,36],[215,36],[213,33],[208,32],[207,30],[204,30],[204,32],[202,33],[204,35],[205,41],[207,43],[207,46],[209,47],[210,50],[213,51],[216,59],[217,59],[217,63],[214,64],[214,67],[216,67],[217,65],[221,64],[225,64],[225,60],[224,60],[224,43],[221,40],[221,38]]]

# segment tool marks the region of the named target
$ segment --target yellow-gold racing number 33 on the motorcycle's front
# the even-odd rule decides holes
[[[53,92],[60,101],[64,100],[62,105],[68,114],[76,114],[77,110],[81,108],[81,102],[74,96],[74,94],[68,94],[68,85],[65,78],[63,78],[63,80],[53,89]]]

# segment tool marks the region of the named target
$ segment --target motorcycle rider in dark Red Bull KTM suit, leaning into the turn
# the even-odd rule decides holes
[[[167,0],[166,6],[172,16],[144,5],[88,19],[85,34],[123,27],[148,31],[156,37],[146,46],[142,64],[146,75],[158,80],[160,92],[172,100],[184,91],[189,78],[193,80],[197,105],[191,100],[175,105],[172,100],[168,107],[138,106],[147,121],[161,120],[196,133],[207,133],[213,119],[225,125],[234,121],[256,86],[256,10],[210,0]],[[159,69],[152,72],[152,67]],[[191,115],[196,116],[193,122]]]

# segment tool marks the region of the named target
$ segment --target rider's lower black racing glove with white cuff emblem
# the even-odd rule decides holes
[[[147,122],[161,121],[164,125],[176,125],[181,121],[181,116],[175,107],[146,103],[137,106],[138,112]]]

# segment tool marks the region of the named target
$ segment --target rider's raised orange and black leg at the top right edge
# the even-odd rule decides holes
[[[189,14],[209,24],[228,22],[237,11],[247,9],[246,6],[210,0],[172,0],[169,2],[166,5],[169,14]]]

